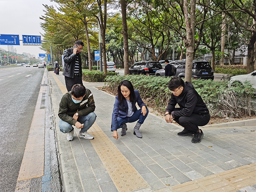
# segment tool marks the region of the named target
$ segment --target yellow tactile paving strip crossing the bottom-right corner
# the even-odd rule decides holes
[[[235,192],[256,184],[256,163],[169,187],[171,192]],[[165,189],[166,191],[166,189]],[[157,192],[164,192],[158,190]]]

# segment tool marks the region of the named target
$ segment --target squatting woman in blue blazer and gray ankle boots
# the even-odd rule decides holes
[[[135,103],[138,103],[140,109],[138,110]],[[118,93],[114,103],[111,131],[113,131],[113,138],[118,139],[117,129],[122,128],[121,136],[126,134],[126,123],[132,123],[139,120],[133,129],[133,134],[142,138],[139,128],[144,123],[148,116],[148,108],[142,101],[138,90],[133,89],[133,85],[128,80],[123,80],[118,85]]]

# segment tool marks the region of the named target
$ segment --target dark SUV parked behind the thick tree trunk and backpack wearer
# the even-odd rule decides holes
[[[186,60],[176,60],[170,63],[174,65],[177,69],[176,75],[180,78],[185,78],[185,67]],[[160,69],[156,71],[155,75],[157,76],[165,76],[165,70]],[[192,65],[192,78],[193,79],[214,79],[213,69],[210,66],[209,62],[206,60],[193,60]]]

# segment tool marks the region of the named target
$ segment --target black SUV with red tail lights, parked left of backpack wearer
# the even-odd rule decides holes
[[[129,68],[130,75],[155,75],[155,72],[162,69],[158,61],[140,61]]]

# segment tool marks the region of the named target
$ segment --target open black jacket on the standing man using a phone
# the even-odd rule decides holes
[[[79,61],[79,77],[82,78],[82,62],[80,54],[73,53],[73,48],[64,50],[63,53],[63,75],[69,78],[74,78],[75,58],[78,56]]]

